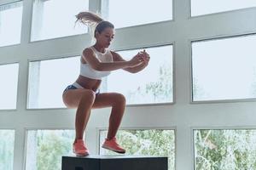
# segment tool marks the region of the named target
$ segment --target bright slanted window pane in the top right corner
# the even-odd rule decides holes
[[[256,7],[255,0],[191,0],[191,16]]]

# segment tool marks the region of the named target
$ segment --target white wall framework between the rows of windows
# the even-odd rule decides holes
[[[98,1],[90,1],[91,10],[99,7]],[[193,128],[256,127],[253,100],[191,103],[190,41],[255,33],[256,8],[189,18],[189,0],[174,0],[173,6],[174,20],[119,29],[111,48],[119,50],[173,43],[175,103],[127,106],[121,128],[176,129],[177,170],[190,170],[193,169]],[[83,35],[29,42],[32,0],[24,1],[23,10],[21,43],[0,48],[0,64],[20,63],[17,109],[0,111],[0,128],[15,129],[15,170],[25,164],[27,128],[74,128],[75,110],[26,110],[28,60],[79,55],[90,39]],[[92,154],[97,154],[98,150],[98,128],[108,127],[109,112],[110,109],[92,111],[86,133]]]

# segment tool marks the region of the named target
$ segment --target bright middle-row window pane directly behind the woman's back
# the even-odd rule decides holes
[[[79,76],[80,57],[29,63],[29,109],[60,108],[63,90]]]

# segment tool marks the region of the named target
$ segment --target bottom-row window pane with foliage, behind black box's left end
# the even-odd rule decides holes
[[[61,169],[61,157],[72,154],[73,130],[29,130],[26,170]]]

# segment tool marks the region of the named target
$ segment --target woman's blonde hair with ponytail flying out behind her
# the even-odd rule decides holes
[[[97,14],[91,12],[80,12],[76,15],[76,17],[76,22],[80,21],[84,25],[89,26],[90,31],[94,31],[94,36],[96,34],[96,31],[101,33],[103,30],[105,30],[105,28],[114,28],[111,22],[103,20]]]

